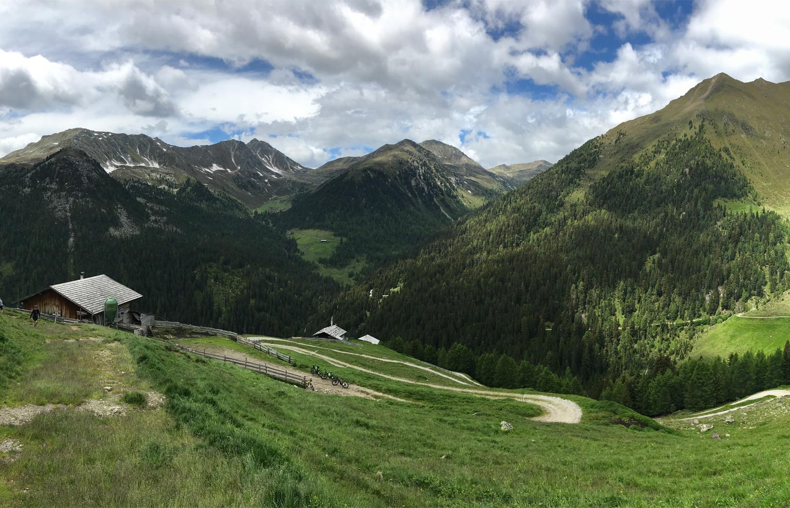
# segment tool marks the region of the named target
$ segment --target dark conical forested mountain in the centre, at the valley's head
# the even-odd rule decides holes
[[[285,228],[318,228],[344,238],[327,265],[354,258],[383,265],[468,212],[455,175],[433,153],[404,140],[360,157],[273,217]]]

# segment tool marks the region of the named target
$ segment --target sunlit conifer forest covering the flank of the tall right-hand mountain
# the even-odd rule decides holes
[[[587,142],[344,292],[336,318],[376,337],[570,370],[593,396],[623,372],[685,358],[683,321],[783,291],[790,268],[780,216],[719,204],[754,190],[706,128],[702,119],[610,171],[600,160],[626,134]]]

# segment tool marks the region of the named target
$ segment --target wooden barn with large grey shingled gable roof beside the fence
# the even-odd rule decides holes
[[[118,302],[118,317],[115,321],[130,323],[134,319],[130,303],[141,299],[143,295],[106,275],[97,275],[55,284],[21,299],[17,306],[32,310],[34,305],[38,305],[43,314],[56,314],[103,325],[104,302],[109,297]]]

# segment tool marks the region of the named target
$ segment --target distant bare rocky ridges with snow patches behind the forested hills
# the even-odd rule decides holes
[[[455,184],[468,194],[463,199],[476,207],[510,188],[506,179],[485,171],[460,150],[438,141],[424,141],[440,150]],[[80,149],[116,179],[137,179],[175,190],[191,178],[238,199],[250,208],[291,198],[320,186],[363,157],[332,160],[318,169],[295,162],[265,141],[228,140],[214,145],[180,147],[145,134],[115,134],[75,128],[43,136],[24,149],[0,158],[0,164],[33,164],[64,148]],[[452,162],[452,161],[454,162]]]

